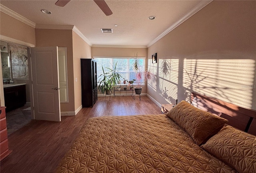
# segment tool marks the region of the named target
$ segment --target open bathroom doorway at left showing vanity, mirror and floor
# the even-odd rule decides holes
[[[8,135],[31,121],[27,47],[0,41]]]

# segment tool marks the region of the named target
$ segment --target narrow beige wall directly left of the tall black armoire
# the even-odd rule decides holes
[[[78,34],[72,32],[73,38],[73,68],[74,68],[74,97],[75,110],[82,105],[81,88],[81,58],[92,58],[91,46],[88,45]],[[77,81],[76,81],[77,79]]]

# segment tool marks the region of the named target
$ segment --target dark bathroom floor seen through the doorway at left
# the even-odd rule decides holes
[[[30,106],[22,106],[18,109],[6,112],[7,133],[10,135],[31,121]]]

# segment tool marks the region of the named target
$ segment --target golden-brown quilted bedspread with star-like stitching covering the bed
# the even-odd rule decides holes
[[[166,115],[91,118],[56,173],[237,173]]]

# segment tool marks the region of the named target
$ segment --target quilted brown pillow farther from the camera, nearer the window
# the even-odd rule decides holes
[[[218,133],[228,120],[198,109],[186,101],[181,101],[166,113],[201,145]]]

